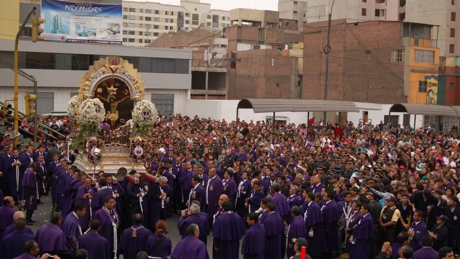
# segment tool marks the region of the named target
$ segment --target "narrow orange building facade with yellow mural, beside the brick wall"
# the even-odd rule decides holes
[[[439,48],[437,26],[408,23],[403,28],[405,88],[409,104],[437,104]]]

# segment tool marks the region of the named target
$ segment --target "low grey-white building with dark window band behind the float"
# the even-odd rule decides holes
[[[0,40],[0,61],[12,66],[14,40]],[[190,98],[190,50],[137,48],[127,46],[36,42],[19,43],[19,68],[37,80],[39,114],[67,111],[67,102],[77,94],[78,83],[94,61],[110,55],[127,59],[141,73],[145,99],[156,104],[159,114],[183,113]],[[13,76],[0,64],[0,101],[13,99]],[[33,93],[33,83],[19,78],[19,90]],[[12,103],[12,102],[10,102]],[[24,112],[24,93],[19,96]]]

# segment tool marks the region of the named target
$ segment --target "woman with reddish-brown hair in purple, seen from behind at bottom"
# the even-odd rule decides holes
[[[171,255],[173,244],[166,236],[168,226],[166,221],[158,220],[155,224],[155,234],[147,238],[145,251],[150,257],[167,258]]]

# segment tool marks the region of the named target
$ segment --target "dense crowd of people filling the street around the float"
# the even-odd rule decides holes
[[[1,258],[298,259],[302,247],[312,259],[460,253],[455,127],[314,118],[272,127],[178,114],[159,117],[148,137],[145,171],[116,176],[81,172],[62,140],[3,144]],[[44,195],[51,220],[32,233]],[[182,239],[173,245],[165,220],[176,213]]]

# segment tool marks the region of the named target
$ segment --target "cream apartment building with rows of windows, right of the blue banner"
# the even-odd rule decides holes
[[[161,33],[188,30],[200,25],[222,30],[230,26],[230,11],[211,9],[200,0],[180,5],[149,1],[123,1],[123,45],[147,46]]]

